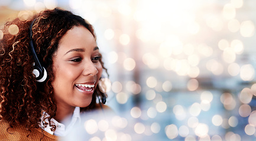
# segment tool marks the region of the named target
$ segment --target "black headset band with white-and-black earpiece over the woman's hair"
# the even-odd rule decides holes
[[[34,19],[35,21],[35,19]],[[41,66],[38,58],[37,58],[37,54],[35,53],[35,49],[34,49],[34,43],[33,43],[33,31],[32,31],[32,26],[34,24],[34,21],[31,23],[30,25],[30,49],[34,58],[34,70],[33,73],[35,75],[35,79],[37,80],[37,82],[44,82],[47,78],[47,72],[46,69]]]

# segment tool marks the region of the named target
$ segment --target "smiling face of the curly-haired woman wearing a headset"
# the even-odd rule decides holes
[[[58,106],[86,107],[102,74],[101,55],[92,33],[84,26],[67,31],[53,56],[53,89]]]

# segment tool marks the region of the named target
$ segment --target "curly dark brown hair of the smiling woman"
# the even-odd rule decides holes
[[[47,70],[47,81],[38,83],[33,75],[33,56],[29,46],[29,27],[33,24],[33,41],[35,52],[40,62]],[[18,33],[12,35],[8,32],[11,25],[18,26]],[[50,121],[56,116],[56,101],[54,100],[53,86],[53,55],[57,51],[60,39],[74,26],[85,26],[92,35],[96,36],[92,25],[80,16],[59,8],[42,11],[28,20],[14,19],[4,25],[4,36],[0,41],[0,120],[9,122],[10,127],[21,124],[27,130],[40,127],[41,113],[48,113],[44,121]],[[100,59],[103,69],[103,62]],[[86,111],[96,108],[96,95],[104,94],[97,86],[93,93],[92,102]],[[44,122],[44,126],[47,123]],[[52,130],[56,126],[50,123]]]

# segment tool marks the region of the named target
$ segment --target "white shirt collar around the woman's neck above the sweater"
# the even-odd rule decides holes
[[[43,115],[44,115],[44,113],[43,113]],[[63,123],[59,123],[59,122],[57,122],[57,120],[51,119],[51,122],[53,122],[54,125],[56,125],[56,130],[53,132],[53,131],[51,131],[51,127],[49,126],[49,124],[45,128],[43,127],[43,115],[41,116],[41,127],[46,132],[50,133],[51,135],[56,135],[56,136],[66,136],[69,132],[71,132],[71,130],[73,129],[76,122],[79,122],[79,123],[81,122],[80,108],[76,107],[76,108],[74,108],[72,119],[71,119],[69,125],[67,125],[67,127]],[[47,113],[46,113],[46,115],[48,116]],[[46,122],[48,122],[48,120],[46,120]]]

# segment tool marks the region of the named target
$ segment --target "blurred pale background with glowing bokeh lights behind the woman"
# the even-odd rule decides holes
[[[94,26],[124,116],[90,141],[256,140],[256,1],[0,0],[0,26],[56,6]]]

